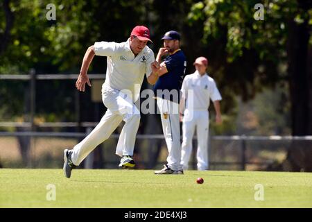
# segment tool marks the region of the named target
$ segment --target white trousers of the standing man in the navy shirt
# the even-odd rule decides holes
[[[182,170],[179,104],[157,97],[157,107],[168,148],[167,165],[174,171]]]

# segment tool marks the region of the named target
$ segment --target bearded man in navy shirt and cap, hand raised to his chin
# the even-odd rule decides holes
[[[159,62],[159,76],[154,87],[157,107],[162,119],[162,130],[168,148],[168,164],[155,174],[183,174],[180,144],[179,101],[180,89],[187,67],[186,58],[180,49],[180,34],[168,31],[164,37],[164,47],[159,49],[156,61]],[[168,56],[162,60],[162,57]]]

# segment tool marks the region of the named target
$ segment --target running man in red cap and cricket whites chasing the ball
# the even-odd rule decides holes
[[[116,155],[121,156],[119,167],[135,167],[132,158],[135,137],[139,128],[140,112],[135,106],[139,99],[144,74],[148,83],[154,85],[158,79],[159,65],[153,51],[146,46],[150,31],[145,26],[133,28],[127,42],[96,42],[90,46],[83,58],[83,65],[76,81],[79,91],[85,92],[85,84],[91,87],[87,69],[94,56],[107,56],[107,71],[102,87],[102,99],[107,107],[105,115],[92,132],[72,150],[64,150],[64,174],[71,177],[71,170],[78,166],[91,151],[104,142],[121,121],[121,130]],[[151,41],[150,41],[151,42]]]

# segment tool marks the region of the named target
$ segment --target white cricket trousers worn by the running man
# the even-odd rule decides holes
[[[128,94],[124,94],[117,89],[103,87],[102,100],[107,107],[107,111],[100,123],[98,123],[96,128],[94,128],[83,141],[73,147],[71,160],[76,166],[78,166],[98,144],[108,139],[121,121],[125,121],[125,125],[119,135],[116,155],[133,155],[135,137],[140,121],[139,110]]]

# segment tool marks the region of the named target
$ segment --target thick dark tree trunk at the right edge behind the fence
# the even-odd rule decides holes
[[[309,49],[309,3],[298,1],[299,10],[307,15],[304,22],[293,19],[289,24],[288,35],[288,74],[292,104],[293,135],[312,135],[312,78],[311,53]],[[309,57],[310,54],[310,57]],[[310,61],[310,62],[309,62]],[[286,171],[312,171],[312,142],[293,141],[288,148],[283,168]]]

